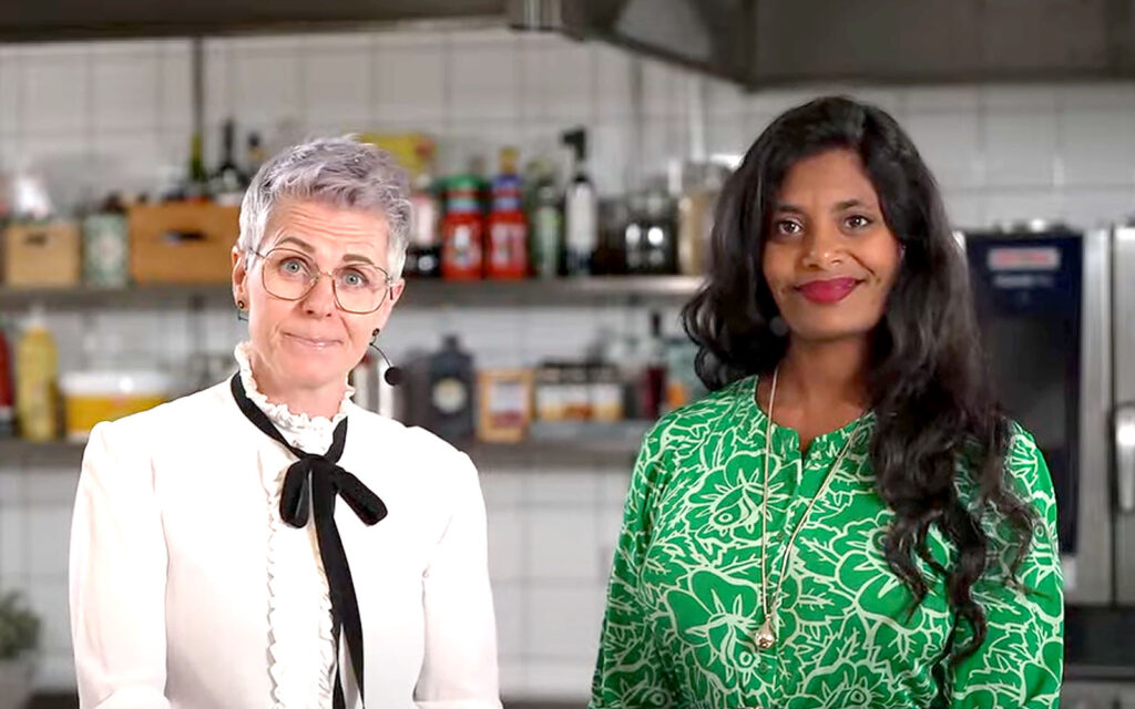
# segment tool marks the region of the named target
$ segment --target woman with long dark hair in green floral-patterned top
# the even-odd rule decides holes
[[[712,394],[647,436],[591,707],[1052,708],[1056,501],[886,112],[779,117],[686,306]]]

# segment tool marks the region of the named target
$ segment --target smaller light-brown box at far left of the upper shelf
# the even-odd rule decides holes
[[[79,282],[78,225],[58,220],[11,225],[3,233],[6,286],[73,287]]]

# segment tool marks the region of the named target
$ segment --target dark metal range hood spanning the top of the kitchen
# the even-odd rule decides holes
[[[479,18],[597,40],[749,90],[1135,78],[1135,0],[0,0],[0,42]]]

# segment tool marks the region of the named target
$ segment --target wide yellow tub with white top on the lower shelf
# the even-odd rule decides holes
[[[161,372],[69,372],[60,388],[68,440],[83,441],[100,421],[114,421],[169,399],[170,378]]]

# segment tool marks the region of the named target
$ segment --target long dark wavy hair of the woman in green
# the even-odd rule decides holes
[[[713,265],[682,321],[698,345],[698,377],[711,390],[773,371],[788,338],[773,327],[779,311],[762,270],[772,211],[789,168],[832,149],[859,155],[883,218],[905,247],[884,315],[869,335],[867,388],[876,416],[871,457],[875,488],[896,515],[884,537],[886,562],[914,596],[911,613],[928,592],[916,556],[945,579],[950,606],[972,630],[953,653],[957,660],[985,641],[974,583],[992,554],[1006,555],[1016,577],[1036,514],[1006,479],[1010,424],[978,345],[962,250],[933,176],[894,119],[832,96],[774,120],[725,185],[713,227]],[[958,482],[976,490],[975,506],[959,499]],[[991,508],[1016,527],[1014,548],[991,548],[981,524]],[[935,524],[957,548],[949,568],[927,550]]]

